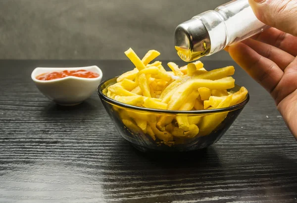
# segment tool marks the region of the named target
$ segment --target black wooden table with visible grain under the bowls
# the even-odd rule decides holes
[[[0,60],[0,202],[297,202],[297,142],[270,96],[238,66],[236,82],[251,97],[241,115],[213,147],[170,155],[135,150],[96,92],[61,107],[31,81],[38,66],[86,65],[98,65],[103,79],[132,67],[121,60]]]

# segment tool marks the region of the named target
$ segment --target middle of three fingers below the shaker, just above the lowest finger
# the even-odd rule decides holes
[[[285,70],[285,68],[295,59],[290,53],[262,42],[247,39],[243,43],[265,58],[275,62],[282,70]]]

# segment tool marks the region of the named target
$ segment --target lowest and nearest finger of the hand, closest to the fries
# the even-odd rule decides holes
[[[284,72],[274,63],[244,43],[229,47],[233,60],[269,93],[277,86]]]

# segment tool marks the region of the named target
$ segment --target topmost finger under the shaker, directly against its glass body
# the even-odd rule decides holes
[[[297,56],[297,37],[286,34],[276,28],[264,30],[260,34],[253,36],[252,39],[272,45],[293,56]]]

